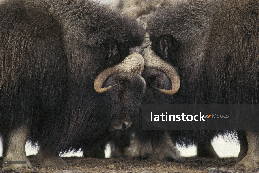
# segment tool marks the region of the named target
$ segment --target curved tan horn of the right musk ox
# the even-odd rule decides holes
[[[149,45],[143,51],[142,56],[144,58],[146,67],[158,69],[164,72],[171,80],[173,86],[171,90],[160,89],[154,86],[152,87],[165,94],[175,94],[180,88],[180,77],[175,68],[157,55],[155,55],[153,50],[151,50],[151,45]]]

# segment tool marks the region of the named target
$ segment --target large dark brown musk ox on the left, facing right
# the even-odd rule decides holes
[[[146,88],[136,22],[94,1],[0,3],[0,134],[4,160],[40,147],[40,166],[64,167],[60,153],[128,128]]]

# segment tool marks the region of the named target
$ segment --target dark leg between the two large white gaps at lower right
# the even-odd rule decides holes
[[[204,143],[197,144],[197,156],[207,158],[219,158],[211,145],[210,139],[207,139]]]

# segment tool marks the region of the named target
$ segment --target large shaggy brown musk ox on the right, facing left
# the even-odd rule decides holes
[[[257,103],[258,23],[259,2],[254,0],[179,0],[152,13],[147,19],[152,50],[142,55],[150,59],[154,51],[152,56],[174,66],[180,89],[170,96],[156,91],[171,89],[174,82],[150,68],[152,75],[142,74],[144,103]],[[236,132],[241,146],[237,165],[258,168],[259,131]],[[151,131],[139,133],[153,138]],[[185,145],[224,133],[228,131],[169,131]]]

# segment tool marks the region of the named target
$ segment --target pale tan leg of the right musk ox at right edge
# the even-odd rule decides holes
[[[259,168],[259,132],[247,130],[245,135],[248,143],[247,155],[237,163],[237,166]]]

